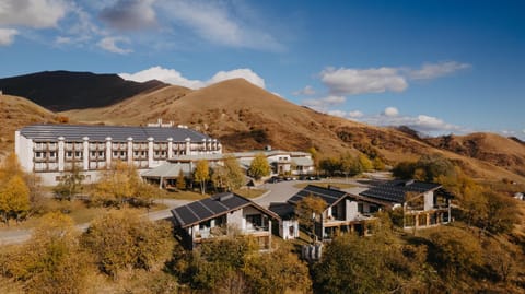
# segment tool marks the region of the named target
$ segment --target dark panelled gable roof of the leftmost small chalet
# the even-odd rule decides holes
[[[257,205],[253,201],[232,192],[218,193],[211,196],[210,198],[178,207],[172,210],[172,214],[177,226],[188,227],[249,205],[268,215],[279,219],[279,216],[273,212],[268,211]]]

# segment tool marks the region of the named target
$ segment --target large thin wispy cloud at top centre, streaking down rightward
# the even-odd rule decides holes
[[[208,42],[252,49],[282,49],[273,36],[250,25],[249,20],[242,20],[242,13],[235,11],[234,5],[201,0],[163,0],[159,4],[177,25],[190,27]]]

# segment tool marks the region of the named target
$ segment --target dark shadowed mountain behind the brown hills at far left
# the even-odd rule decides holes
[[[102,107],[165,86],[159,81],[138,83],[117,74],[44,71],[0,79],[4,94],[23,96],[52,110]]]

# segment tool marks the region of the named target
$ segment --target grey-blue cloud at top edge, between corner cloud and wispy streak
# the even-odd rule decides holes
[[[118,30],[140,30],[154,26],[154,0],[118,0],[101,12],[101,20]]]

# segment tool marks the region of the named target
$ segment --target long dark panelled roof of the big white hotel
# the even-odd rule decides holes
[[[105,141],[110,137],[113,141],[127,141],[129,137],[135,141],[147,141],[152,137],[155,141],[167,141],[173,138],[175,142],[184,142],[186,138],[191,141],[202,141],[210,137],[186,128],[160,127],[125,127],[125,126],[74,126],[74,125],[33,125],[24,127],[20,133],[27,139],[42,141],[56,141],[63,137],[66,141],[82,141],[88,137],[91,141]]]

